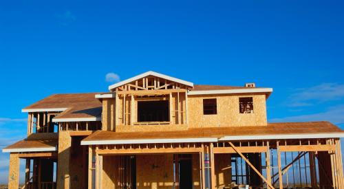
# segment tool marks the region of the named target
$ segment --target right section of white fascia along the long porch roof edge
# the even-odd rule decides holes
[[[288,135],[235,135],[224,136],[219,141],[230,140],[286,140],[286,139],[312,139],[312,138],[340,138],[344,133],[310,133],[310,134],[288,134]]]

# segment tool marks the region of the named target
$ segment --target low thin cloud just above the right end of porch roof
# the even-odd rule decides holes
[[[269,122],[309,122],[309,121],[330,121],[334,124],[344,123],[344,105],[331,107],[321,113],[306,115],[295,115],[285,118],[273,118]]]

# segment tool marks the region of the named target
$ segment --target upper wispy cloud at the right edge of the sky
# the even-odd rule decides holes
[[[309,88],[297,89],[288,99],[288,107],[308,107],[319,102],[344,98],[344,85],[322,83]]]

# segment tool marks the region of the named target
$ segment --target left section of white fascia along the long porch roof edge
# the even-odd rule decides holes
[[[217,142],[217,137],[206,138],[160,138],[160,139],[133,139],[133,140],[83,140],[81,145],[103,145],[103,144],[159,144],[159,143],[181,143],[181,142]]]

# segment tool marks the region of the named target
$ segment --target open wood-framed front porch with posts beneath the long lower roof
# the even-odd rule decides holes
[[[89,188],[343,188],[337,138],[89,146]]]

